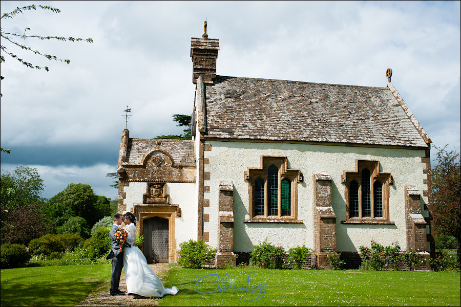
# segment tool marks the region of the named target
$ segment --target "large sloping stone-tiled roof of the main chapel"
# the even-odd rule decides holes
[[[427,147],[388,87],[217,76],[208,138]]]

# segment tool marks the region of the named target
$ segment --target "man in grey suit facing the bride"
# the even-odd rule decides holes
[[[112,259],[111,295],[125,295],[125,292],[118,290],[121,269],[123,268],[123,251],[120,252],[120,246],[115,239],[115,232],[120,228],[122,221],[123,215],[120,213],[114,215],[114,225],[111,228],[112,251],[107,256],[108,260]]]

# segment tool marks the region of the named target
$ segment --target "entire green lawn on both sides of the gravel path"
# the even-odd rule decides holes
[[[73,306],[110,274],[111,265],[2,270],[1,305]],[[216,275],[196,282],[197,276],[208,274]],[[173,265],[166,280],[165,287],[177,286],[179,293],[159,299],[161,306],[459,306],[461,299],[459,272],[206,270]]]

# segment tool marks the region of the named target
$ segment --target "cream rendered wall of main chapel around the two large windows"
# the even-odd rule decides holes
[[[218,189],[220,180],[234,183],[234,250],[252,251],[253,245],[266,237],[269,242],[285,250],[305,244],[313,247],[312,206],[313,171],[326,171],[332,178],[332,207],[337,216],[337,250],[358,251],[361,245],[370,246],[371,239],[387,246],[399,242],[406,249],[405,228],[405,185],[416,186],[420,193],[427,190],[423,179],[426,164],[421,162],[424,150],[367,148],[352,146],[326,146],[287,143],[238,143],[207,141],[211,151],[205,151],[205,171],[211,173],[211,180],[205,181],[210,192],[204,199],[210,200],[209,223],[204,231],[209,232],[209,244],[218,246]],[[248,216],[248,183],[244,171],[260,168],[261,156],[286,156],[288,168],[300,169],[304,182],[298,183],[298,220],[303,224],[243,223]],[[389,187],[389,217],[395,225],[353,225],[341,224],[346,220],[345,186],[341,183],[343,171],[355,171],[355,160],[377,160],[380,171],[388,172],[394,179]],[[422,197],[427,203],[427,197]],[[423,207],[423,206],[422,206]],[[427,215],[423,213],[423,215]]]

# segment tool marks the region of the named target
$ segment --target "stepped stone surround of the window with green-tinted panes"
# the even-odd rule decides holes
[[[268,215],[269,212],[269,195],[267,188],[268,168],[271,165],[277,166],[278,172],[278,214]],[[264,212],[265,215],[254,215],[254,191],[255,181],[261,177],[265,182],[264,189]],[[291,214],[289,216],[281,216],[282,201],[281,201],[281,184],[282,180],[288,179],[291,183]],[[248,182],[248,214],[249,219],[244,220],[244,223],[303,223],[297,220],[298,217],[298,182],[303,181],[302,173],[299,169],[288,169],[287,158],[285,156],[261,156],[261,168],[248,168],[245,171],[245,181]]]

